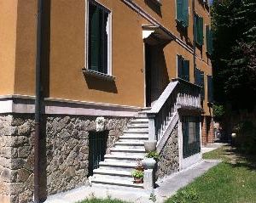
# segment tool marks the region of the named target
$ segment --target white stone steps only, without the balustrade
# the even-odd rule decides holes
[[[131,171],[137,159],[145,155],[144,141],[148,140],[148,118],[136,117],[116,142],[110,154],[104,156],[99,168],[93,171],[93,185],[125,186],[143,189],[143,183],[133,183]]]

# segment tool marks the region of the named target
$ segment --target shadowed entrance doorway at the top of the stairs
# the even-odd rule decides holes
[[[145,92],[147,107],[152,106],[159,99],[161,93],[170,82],[163,48],[163,45],[152,45],[145,42]]]

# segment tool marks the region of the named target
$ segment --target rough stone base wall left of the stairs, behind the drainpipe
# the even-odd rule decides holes
[[[32,201],[32,115],[0,116],[0,202]],[[106,117],[107,151],[125,130],[130,119]],[[87,183],[89,132],[96,131],[93,116],[46,116],[40,139],[40,192],[47,195]]]

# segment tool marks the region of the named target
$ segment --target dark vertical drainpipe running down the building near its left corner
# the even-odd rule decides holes
[[[34,202],[39,203],[39,142],[41,120],[41,55],[42,55],[42,13],[43,0],[38,0],[37,59],[36,59],[36,99],[34,133]]]

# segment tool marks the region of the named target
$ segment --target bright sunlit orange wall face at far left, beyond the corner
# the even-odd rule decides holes
[[[13,94],[17,0],[0,0],[0,94]]]

